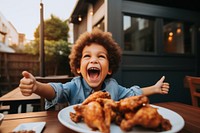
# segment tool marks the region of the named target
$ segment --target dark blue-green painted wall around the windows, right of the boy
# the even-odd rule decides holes
[[[113,6],[114,5],[114,6]],[[107,25],[108,31],[112,32],[113,38],[123,47],[123,13],[139,14],[170,19],[180,19],[197,23],[199,28],[200,14],[189,10],[170,7],[161,7],[133,1],[109,0]],[[188,17],[190,16],[190,17]],[[156,29],[159,30],[159,29]],[[162,30],[162,29],[160,29]],[[157,34],[161,32],[157,31]],[[189,89],[184,87],[186,75],[200,76],[200,31],[196,30],[194,39],[194,54],[192,55],[165,55],[162,53],[162,40],[157,45],[157,52],[150,55],[123,53],[123,60],[119,72],[114,75],[117,81],[126,87],[139,85],[150,86],[156,83],[162,75],[170,83],[168,95],[150,96],[151,103],[179,101],[191,104]]]

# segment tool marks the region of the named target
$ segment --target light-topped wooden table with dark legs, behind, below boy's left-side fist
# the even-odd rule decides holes
[[[17,113],[20,105],[22,105],[21,112],[26,112],[27,104],[40,104],[40,99],[41,97],[36,94],[32,94],[31,96],[23,96],[20,89],[17,87],[16,89],[0,97],[0,103],[3,105],[10,105],[9,113]]]

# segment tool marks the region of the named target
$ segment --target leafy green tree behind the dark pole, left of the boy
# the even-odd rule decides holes
[[[44,21],[45,63],[50,62],[51,66],[55,65],[54,74],[57,74],[60,67],[68,69],[66,72],[70,74],[68,55],[71,44],[68,42],[69,27],[67,22],[68,20],[62,21],[54,15]],[[39,35],[40,25],[35,30],[34,42],[26,45],[24,49],[26,53],[39,54]]]

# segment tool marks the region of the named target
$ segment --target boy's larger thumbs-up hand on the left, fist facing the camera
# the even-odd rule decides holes
[[[22,75],[24,77],[20,80],[19,88],[24,96],[30,96],[37,88],[36,79],[27,71],[23,71]]]

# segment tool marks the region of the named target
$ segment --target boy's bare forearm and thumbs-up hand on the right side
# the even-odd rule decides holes
[[[169,92],[169,83],[164,82],[165,76],[155,84],[149,87],[142,88],[142,92],[144,95],[152,95],[152,94],[168,94]]]

